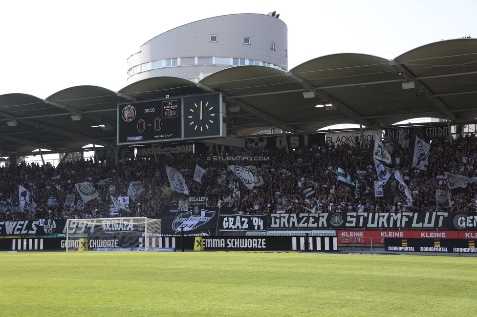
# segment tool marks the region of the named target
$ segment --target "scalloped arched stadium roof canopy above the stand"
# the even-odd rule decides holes
[[[392,60],[329,55],[288,72],[231,67],[198,83],[156,77],[119,92],[78,86],[47,99],[1,95],[0,155],[28,155],[39,148],[74,152],[90,143],[114,146],[118,102],[213,91],[226,94],[228,134],[238,137],[271,128],[313,133],[339,123],[386,128],[422,117],[477,123],[477,39],[435,42]],[[92,127],[100,123],[105,127]]]

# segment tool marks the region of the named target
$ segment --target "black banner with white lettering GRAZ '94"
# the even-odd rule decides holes
[[[219,231],[266,231],[267,215],[219,215]]]

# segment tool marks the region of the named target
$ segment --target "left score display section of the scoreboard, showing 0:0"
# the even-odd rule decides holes
[[[182,139],[182,99],[118,104],[118,144]]]

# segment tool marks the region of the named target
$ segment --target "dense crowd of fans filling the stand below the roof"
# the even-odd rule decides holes
[[[248,161],[254,164],[264,182],[248,189],[236,179],[224,161],[207,159],[217,153],[188,153],[171,156],[136,157],[125,164],[132,171],[132,179],[139,180],[145,191],[130,199],[130,211],[121,210],[119,216],[162,217],[171,207],[187,201],[185,194],[169,192],[164,195],[164,186],[169,187],[165,166],[178,170],[193,197],[207,197],[209,207],[228,206],[240,214],[298,213],[298,212],[396,212],[436,210],[436,190],[448,188],[444,171],[451,171],[469,178],[477,178],[477,138],[465,135],[453,140],[439,136],[432,140],[427,171],[411,168],[413,144],[407,149],[394,145],[391,153],[392,166],[403,171],[403,178],[412,192],[412,200],[404,199],[396,192],[393,201],[386,202],[374,196],[374,181],[378,180],[373,161],[373,144],[352,146],[348,144],[311,144],[300,148],[257,149],[254,155],[265,160]],[[231,153],[220,153],[231,155]],[[234,164],[234,162],[228,162]],[[237,162],[236,162],[237,163]],[[207,170],[201,183],[195,181],[195,165]],[[244,162],[238,162],[244,164]],[[337,183],[337,175],[328,167],[339,166],[346,171],[356,170],[365,181],[366,189],[356,198],[349,187]],[[225,177],[225,175],[227,177]],[[104,184],[100,180],[111,178]],[[85,204],[76,193],[75,184],[92,182],[99,197]],[[239,184],[240,196],[234,197],[230,182]],[[60,163],[57,167],[36,163],[2,167],[0,169],[0,200],[8,205],[19,203],[19,185],[26,188],[36,203],[36,213],[0,213],[0,220],[25,218],[88,218],[110,217],[110,185],[117,196],[127,196],[128,182],[119,172],[114,160],[95,162],[93,158]],[[476,210],[476,183],[467,186],[467,191],[451,196],[451,212]],[[314,193],[306,197],[304,189]],[[65,197],[75,194],[76,204],[65,206]],[[48,198],[56,198],[56,205],[48,205]]]

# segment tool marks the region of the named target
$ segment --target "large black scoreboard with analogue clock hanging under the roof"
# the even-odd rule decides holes
[[[221,93],[117,105],[119,145],[221,138],[226,130]]]

